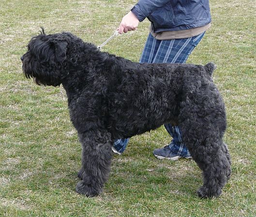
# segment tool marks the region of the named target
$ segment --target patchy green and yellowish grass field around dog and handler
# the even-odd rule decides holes
[[[188,62],[214,62],[226,102],[225,141],[232,176],[219,198],[202,200],[194,161],[159,161],[164,127],[135,136],[115,156],[101,196],[75,193],[81,148],[62,87],[26,80],[19,57],[40,27],[70,31],[96,45],[119,26],[135,0],[1,0],[0,216],[256,216],[256,8],[253,0],[211,0],[212,26]],[[138,61],[149,22],[104,48]],[[214,130],[214,129],[212,129]]]

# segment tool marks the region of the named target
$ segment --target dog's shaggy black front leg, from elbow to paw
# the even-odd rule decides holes
[[[88,197],[101,193],[108,179],[112,151],[111,136],[107,132],[90,131],[78,133],[82,144],[82,168],[78,177],[82,180],[76,185],[76,192]]]

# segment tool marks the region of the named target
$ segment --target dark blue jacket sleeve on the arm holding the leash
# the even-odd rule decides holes
[[[158,8],[165,6],[170,0],[139,0],[131,9],[138,20],[142,22],[147,16]]]

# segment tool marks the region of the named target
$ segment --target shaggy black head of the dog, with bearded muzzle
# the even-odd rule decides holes
[[[28,52],[21,56],[26,78],[33,78],[39,85],[60,85],[69,74],[67,65],[77,59],[72,50],[82,43],[71,33],[46,35],[42,28],[41,33],[30,40]]]

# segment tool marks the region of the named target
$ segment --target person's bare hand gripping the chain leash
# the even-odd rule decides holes
[[[139,20],[131,11],[126,14],[117,29],[120,34],[123,32],[126,33],[128,31],[135,30],[138,27]]]

